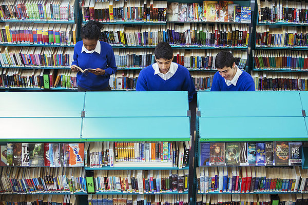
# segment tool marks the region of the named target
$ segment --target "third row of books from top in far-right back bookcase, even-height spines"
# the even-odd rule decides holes
[[[253,50],[256,69],[267,70],[306,70],[308,53],[304,51],[264,51]]]

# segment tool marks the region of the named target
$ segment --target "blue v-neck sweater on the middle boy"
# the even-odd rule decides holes
[[[188,91],[188,100],[192,100],[196,92],[195,84],[184,66],[179,65],[176,73],[167,80],[154,73],[152,65],[142,69],[138,76],[136,91]]]

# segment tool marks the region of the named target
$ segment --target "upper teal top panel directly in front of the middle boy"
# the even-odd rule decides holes
[[[186,117],[187,92],[86,92],[86,117]]]

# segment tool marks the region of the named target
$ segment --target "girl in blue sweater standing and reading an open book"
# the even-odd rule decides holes
[[[110,75],[117,72],[114,53],[111,46],[99,40],[103,25],[94,20],[81,29],[80,42],[74,48],[74,61],[71,70],[78,72],[78,91],[111,91]],[[80,67],[86,72],[80,72]]]

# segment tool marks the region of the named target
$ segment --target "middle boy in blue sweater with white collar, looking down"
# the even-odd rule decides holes
[[[188,91],[188,100],[191,101],[196,92],[195,84],[187,68],[172,62],[171,46],[161,42],[154,54],[157,63],[140,71],[136,91]]]

